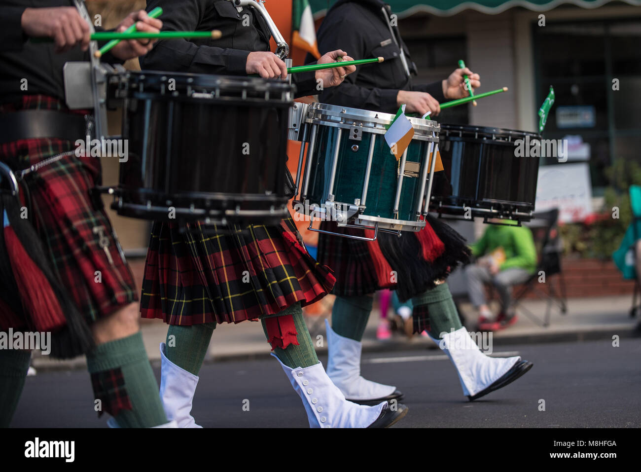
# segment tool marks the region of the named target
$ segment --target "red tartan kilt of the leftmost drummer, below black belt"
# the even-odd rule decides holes
[[[47,96],[24,96],[21,103],[0,105],[0,113],[29,109],[67,110]],[[15,171],[74,149],[69,140],[22,139],[0,145],[0,160]],[[21,181],[20,204],[28,210],[28,221],[38,233],[53,273],[88,323],[138,299],[102,200],[93,192],[100,183],[99,159],[72,152],[26,174]],[[19,295],[4,291],[2,297]],[[5,299],[0,307],[21,305],[15,299],[7,302]],[[0,329],[28,328],[28,315],[0,310]]]

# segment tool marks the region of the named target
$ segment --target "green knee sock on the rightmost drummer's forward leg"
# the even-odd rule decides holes
[[[433,338],[440,339],[441,333],[449,333],[452,328],[456,331],[463,327],[447,283],[441,283],[413,297],[412,304],[415,326],[417,318],[422,319],[419,329],[421,332],[422,329],[427,329]]]

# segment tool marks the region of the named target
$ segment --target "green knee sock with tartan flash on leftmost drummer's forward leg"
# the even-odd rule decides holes
[[[140,332],[100,344],[87,354],[87,368],[102,410],[121,428],[151,428],[167,423],[158,384]],[[119,409],[129,398],[131,410]]]

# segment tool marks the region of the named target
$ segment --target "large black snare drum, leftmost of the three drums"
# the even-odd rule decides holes
[[[142,219],[278,224],[285,196],[292,85],[260,78],[128,72],[110,76],[124,99],[112,207]]]

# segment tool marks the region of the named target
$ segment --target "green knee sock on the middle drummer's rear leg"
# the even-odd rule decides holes
[[[170,325],[165,342],[165,355],[186,371],[198,375],[212,339],[216,323],[178,326]]]

